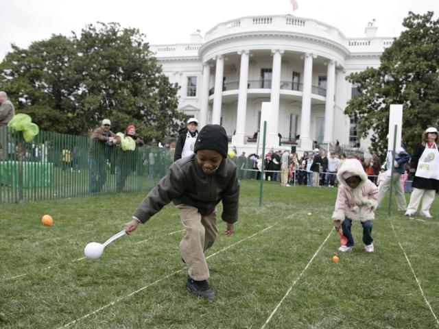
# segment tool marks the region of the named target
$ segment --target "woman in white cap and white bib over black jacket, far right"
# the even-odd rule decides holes
[[[435,127],[429,127],[423,134],[423,140],[414,148],[410,162],[410,168],[415,169],[415,171],[412,182],[413,191],[405,212],[406,216],[414,216],[422,199],[420,215],[432,218],[431,204],[436,197],[436,191],[439,191],[438,146],[438,130]]]

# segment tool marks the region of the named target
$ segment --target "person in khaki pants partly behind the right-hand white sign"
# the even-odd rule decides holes
[[[383,201],[385,192],[387,192],[390,188],[390,185],[392,185],[392,188],[395,191],[396,205],[398,206],[398,210],[407,210],[407,202],[405,201],[404,189],[401,188],[401,181],[399,180],[399,178],[401,177],[401,175],[404,174],[405,164],[409,162],[409,160],[410,154],[405,151],[404,145],[401,144],[401,148],[398,150],[398,154],[396,154],[395,161],[393,163],[393,177],[390,177],[390,174],[392,172],[392,153],[388,152],[388,156],[386,159],[386,166],[388,171],[386,172],[387,175],[384,182],[381,183],[381,186],[379,187],[378,206]]]

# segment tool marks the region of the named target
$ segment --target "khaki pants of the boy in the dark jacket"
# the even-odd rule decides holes
[[[186,236],[180,241],[180,252],[189,268],[189,276],[201,281],[209,278],[204,252],[210,248],[218,236],[216,210],[209,215],[200,215],[198,209],[187,204],[176,206],[186,230]]]

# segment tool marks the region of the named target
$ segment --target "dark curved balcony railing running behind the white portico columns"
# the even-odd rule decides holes
[[[272,80],[248,80],[247,83],[248,89],[271,89],[272,88]],[[237,90],[239,89],[239,81],[235,82],[226,82],[222,86],[222,91],[226,90]],[[299,84],[298,82],[292,81],[281,81],[281,90],[296,90],[303,91],[303,84]],[[209,89],[209,96],[215,93],[215,87]],[[327,90],[326,88],[322,88],[319,86],[311,86],[311,93],[314,95],[319,95],[326,97]]]

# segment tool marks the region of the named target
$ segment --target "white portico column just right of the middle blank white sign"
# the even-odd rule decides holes
[[[279,145],[279,95],[281,91],[281,64],[283,50],[274,49],[272,50],[272,54],[272,93],[270,96],[270,102],[272,103],[272,118],[270,130],[268,131],[268,141],[272,145]]]

